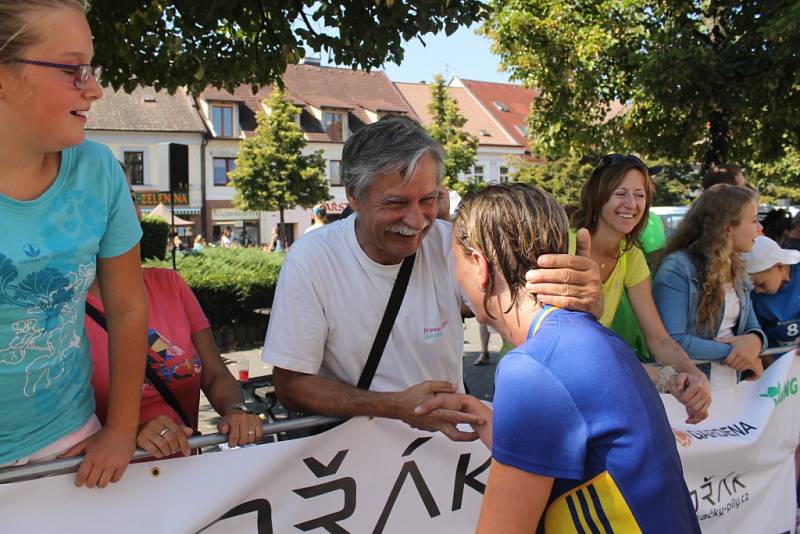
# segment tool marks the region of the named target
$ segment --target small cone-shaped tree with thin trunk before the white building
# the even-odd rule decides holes
[[[277,87],[266,104],[269,113],[256,115],[255,134],[241,141],[236,168],[228,176],[236,188],[234,205],[280,212],[284,232],[284,210],[310,208],[331,197],[322,152],[302,153],[306,140],[295,121],[300,110]],[[285,242],[286,236],[281,239]]]

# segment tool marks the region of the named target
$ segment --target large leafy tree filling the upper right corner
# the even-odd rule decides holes
[[[540,155],[710,165],[774,161],[800,141],[800,0],[492,0],[483,31],[541,90]]]

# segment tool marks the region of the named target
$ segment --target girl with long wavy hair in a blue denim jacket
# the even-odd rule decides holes
[[[667,243],[653,280],[664,325],[691,358],[761,376],[766,347],[740,254],[761,230],[757,195],[727,184],[706,189]]]

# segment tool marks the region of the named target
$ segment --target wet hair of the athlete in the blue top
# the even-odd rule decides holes
[[[501,273],[508,284],[511,304],[506,311],[518,305],[525,273],[538,269],[539,256],[568,252],[568,232],[567,215],[556,199],[529,184],[497,184],[469,194],[453,219],[453,239],[463,253],[480,251],[492,273]],[[490,276],[484,309],[493,290]]]

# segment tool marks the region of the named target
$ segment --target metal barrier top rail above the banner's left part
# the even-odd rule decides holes
[[[330,423],[343,421],[339,417],[325,417],[322,415],[314,415],[312,417],[301,417],[298,419],[290,419],[281,421],[279,423],[264,423],[264,436],[271,436],[280,434],[281,432],[289,432],[292,430],[301,430],[304,428],[313,428]],[[192,449],[199,449],[202,447],[210,447],[212,445],[219,445],[228,441],[228,436],[225,434],[204,434],[201,436],[192,436],[188,439],[189,447]],[[133,454],[134,460],[141,460],[145,458],[152,458],[153,456],[143,450],[136,449]],[[10,482],[22,482],[23,480],[31,480],[34,478],[41,478],[46,476],[63,475],[66,473],[74,473],[78,470],[78,466],[83,461],[83,456],[75,456],[72,458],[63,458],[61,460],[53,460],[52,462],[41,462],[34,464],[27,464],[19,467],[5,467],[0,469],[0,484]]]

